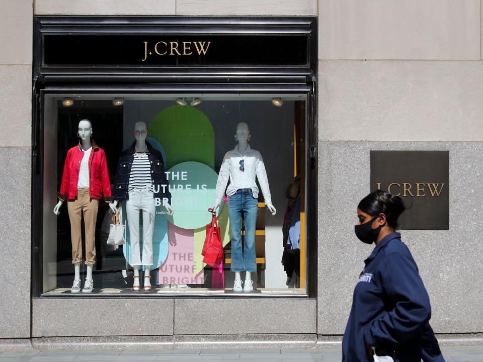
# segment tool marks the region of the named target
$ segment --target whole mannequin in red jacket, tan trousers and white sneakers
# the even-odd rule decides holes
[[[59,209],[64,201],[67,201],[71,241],[72,263],[74,264],[74,282],[71,292],[78,293],[81,290],[81,216],[84,215],[84,229],[86,240],[86,265],[87,276],[83,293],[90,293],[94,288],[92,268],[96,258],[96,219],[99,200],[104,197],[109,202],[109,207],[116,211],[111,196],[109,172],[107,169],[106,155],[92,141],[92,125],[89,120],[82,120],[78,125],[77,136],[79,144],[70,148],[65,158],[64,170],[60,192],[57,193],[59,202],[54,208],[54,213],[59,215]]]

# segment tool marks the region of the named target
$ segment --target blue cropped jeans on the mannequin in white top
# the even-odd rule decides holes
[[[245,221],[245,248],[241,248],[241,213]],[[255,228],[258,214],[258,199],[252,189],[239,189],[228,196],[228,216],[230,218],[231,271],[256,272]]]

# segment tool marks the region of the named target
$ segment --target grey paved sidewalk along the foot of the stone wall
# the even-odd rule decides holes
[[[483,346],[443,347],[447,362],[483,362]],[[340,362],[339,349],[106,349],[0,352],[0,362],[72,361]]]

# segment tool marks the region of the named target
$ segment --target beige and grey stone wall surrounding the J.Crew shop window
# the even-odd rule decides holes
[[[306,345],[307,339],[315,343],[317,337],[344,332],[352,289],[368,253],[354,241],[352,228],[355,205],[369,188],[371,149],[450,150],[450,229],[411,231],[403,237],[428,287],[435,331],[482,333],[481,8],[481,0],[0,0],[0,345],[2,338],[72,336],[46,323],[71,319],[71,308],[76,318],[92,308],[81,301],[30,297],[35,15],[317,16],[318,298],[237,300],[238,310],[253,305],[260,316],[240,325],[240,333],[253,334],[253,339],[267,334],[268,340],[292,334]],[[6,262],[6,255],[20,262]],[[130,303],[142,315],[140,301],[115,303],[121,310]],[[148,329],[149,335],[216,334],[213,315],[205,312],[194,326],[190,314],[199,308],[231,311],[229,299],[148,302],[174,314],[168,322],[153,314],[159,323]],[[112,308],[109,300],[96,300],[96,318],[106,318]],[[274,308],[297,312],[291,322],[280,322]],[[141,325],[137,320],[131,327]],[[225,327],[220,334],[236,334],[232,326]],[[126,323],[103,331],[83,324],[75,336],[135,332]]]

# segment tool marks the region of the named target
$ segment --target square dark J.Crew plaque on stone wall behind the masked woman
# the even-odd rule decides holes
[[[403,199],[401,229],[448,230],[448,151],[371,151],[374,190]]]

